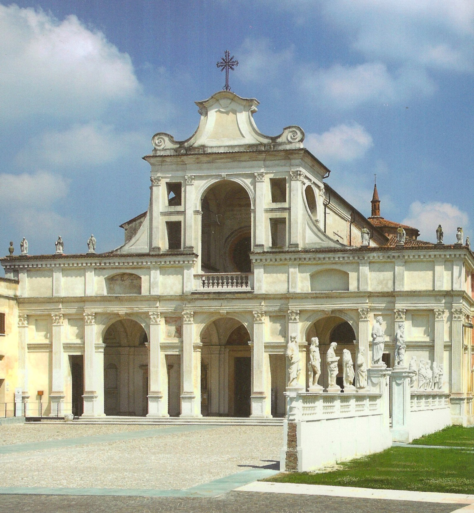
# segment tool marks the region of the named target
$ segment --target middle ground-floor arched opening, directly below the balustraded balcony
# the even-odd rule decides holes
[[[201,332],[201,413],[249,417],[252,358],[250,334],[233,318],[218,319]]]

